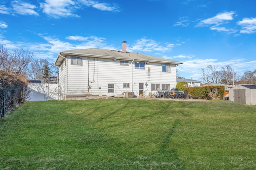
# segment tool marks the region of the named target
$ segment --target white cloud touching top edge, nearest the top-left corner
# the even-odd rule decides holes
[[[12,8],[15,13],[20,14],[20,15],[36,15],[38,16],[38,13],[34,11],[37,7],[28,4],[26,2],[19,2],[17,0],[12,1]]]

